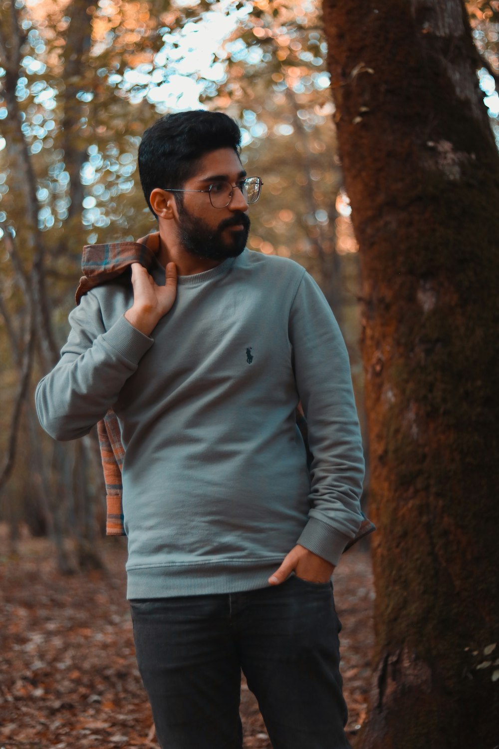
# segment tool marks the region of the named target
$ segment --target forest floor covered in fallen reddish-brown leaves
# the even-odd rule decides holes
[[[0,749],[156,749],[125,599],[125,539],[100,542],[106,571],[68,576],[56,570],[46,539],[24,538],[9,555],[2,530]],[[373,574],[361,545],[333,578],[353,745],[372,678]],[[241,716],[245,748],[270,749],[244,677]]]

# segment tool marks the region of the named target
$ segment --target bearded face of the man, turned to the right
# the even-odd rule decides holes
[[[246,176],[239,157],[232,148],[220,148],[206,154],[198,163],[194,177],[183,189],[204,190],[220,181],[238,184]],[[235,258],[245,249],[250,228],[248,204],[239,187],[234,188],[230,204],[212,206],[208,192],[181,192],[178,237],[191,255],[210,260]]]

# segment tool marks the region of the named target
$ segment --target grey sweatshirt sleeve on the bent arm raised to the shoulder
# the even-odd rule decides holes
[[[58,364],[37,385],[38,419],[56,440],[88,434],[114,404],[153,339],[120,318],[105,330],[94,291],[70,312],[71,331]]]

